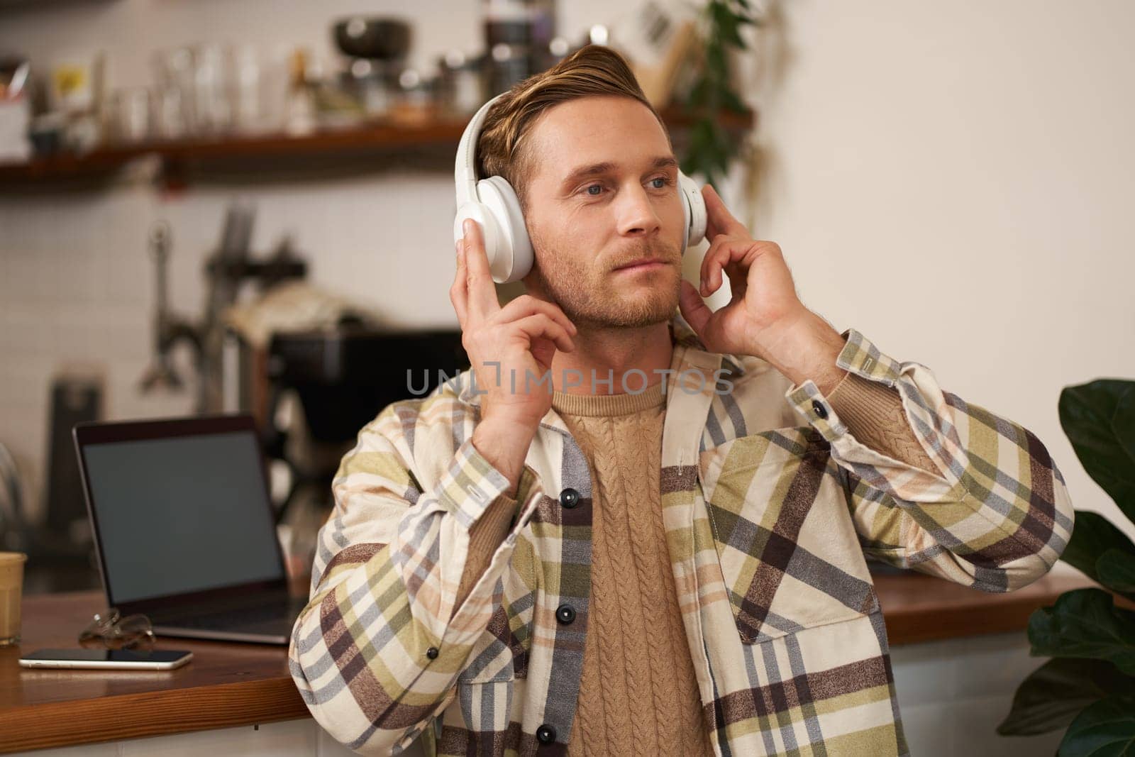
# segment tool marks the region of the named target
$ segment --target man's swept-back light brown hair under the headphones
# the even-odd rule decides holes
[[[623,57],[611,48],[588,44],[552,68],[514,84],[489,108],[477,141],[478,178],[503,176],[516,191],[521,209],[527,211],[527,184],[535,155],[524,136],[548,108],[591,95],[638,100],[658,119],[670,143],[666,125],[646,99]]]

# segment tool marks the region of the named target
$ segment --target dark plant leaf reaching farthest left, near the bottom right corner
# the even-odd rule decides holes
[[[1109,695],[1135,695],[1135,678],[1102,659],[1056,657],[1022,681],[1001,735],[1034,735],[1062,729],[1085,707]]]

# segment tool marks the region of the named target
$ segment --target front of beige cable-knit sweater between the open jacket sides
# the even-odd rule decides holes
[[[591,469],[590,615],[568,754],[712,756],[662,522],[662,385],[555,393],[553,406]]]

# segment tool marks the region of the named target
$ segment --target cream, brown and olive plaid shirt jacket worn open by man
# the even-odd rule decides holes
[[[706,352],[679,314],[671,328],[659,516],[716,754],[907,754],[865,554],[985,591],[1025,586],[1071,533],[1056,463],[855,329],[836,363],[898,389],[938,474],[856,440],[810,379]],[[360,754],[419,737],[427,754],[566,754],[590,471],[550,410],[513,525],[455,608],[469,529],[508,486],[471,444],[479,410],[469,371],[394,403],[336,474],[288,656],[316,721]]]

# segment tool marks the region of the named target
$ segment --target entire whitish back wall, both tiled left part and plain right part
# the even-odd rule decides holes
[[[0,50],[40,66],[96,48],[112,85],[150,77],[154,49],[251,42],[266,54],[330,54],[330,19],[356,10],[415,24],[411,62],[473,50],[480,3],[390,0],[101,0],[0,12]],[[611,20],[609,3],[560,3],[560,30]],[[872,0],[773,6],[759,52],[740,60],[760,110],[751,187],[725,188],[757,238],[777,241],[805,302],[941,384],[1032,429],[1077,506],[1115,518],[1057,418],[1060,388],[1135,376],[1127,289],[1135,182],[1135,6]],[[392,319],[453,323],[452,184],[405,173],[241,190],[259,207],[255,246],[296,234],[313,278]],[[174,305],[197,312],[201,261],[237,192],[144,185],[0,197],[0,440],[39,486],[47,377],[94,362],[112,417],[180,412],[138,397],[148,359],[149,224],[173,224]]]

